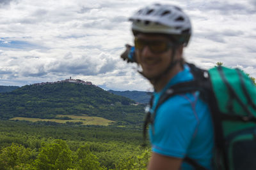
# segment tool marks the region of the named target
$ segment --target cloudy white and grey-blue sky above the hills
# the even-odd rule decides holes
[[[151,0],[0,0],[0,85],[70,78],[105,90],[152,91],[136,64],[120,59],[133,45],[131,17]],[[216,62],[256,78],[255,0],[157,1],[180,6],[193,34],[184,58]]]

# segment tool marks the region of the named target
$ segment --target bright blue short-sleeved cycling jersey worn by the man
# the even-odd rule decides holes
[[[168,87],[193,80],[187,65],[176,74],[161,92],[154,92],[153,107]],[[154,131],[152,131],[154,128]],[[179,94],[166,100],[156,112],[154,126],[149,128],[152,152],[184,159],[189,157],[212,169],[214,132],[209,107],[199,92]],[[182,169],[193,169],[186,162]]]

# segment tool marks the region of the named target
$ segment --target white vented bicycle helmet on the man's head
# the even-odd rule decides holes
[[[132,32],[169,34],[179,44],[188,45],[191,36],[189,17],[177,6],[152,4],[137,11],[132,17]]]

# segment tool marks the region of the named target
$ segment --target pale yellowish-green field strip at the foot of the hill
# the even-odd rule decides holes
[[[82,125],[109,125],[115,123],[115,121],[108,120],[106,118],[102,117],[88,117],[87,115],[81,115],[81,116],[76,116],[76,115],[57,115],[56,117],[61,118],[61,117],[68,117],[70,120],[62,120],[62,119],[42,119],[42,118],[26,118],[26,117],[14,117],[10,118],[10,120],[26,120],[26,121],[31,121],[31,122],[38,122],[38,121],[51,121],[51,122],[57,122],[60,124],[65,124],[66,122],[82,122]]]

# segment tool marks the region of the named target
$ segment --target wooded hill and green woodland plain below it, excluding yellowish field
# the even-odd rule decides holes
[[[95,85],[67,82],[26,85],[0,93],[0,103],[0,169],[147,167],[150,150],[140,146],[145,104],[136,104]],[[116,123],[82,125],[69,120],[89,120],[84,115]],[[42,120],[8,120],[13,117]]]

